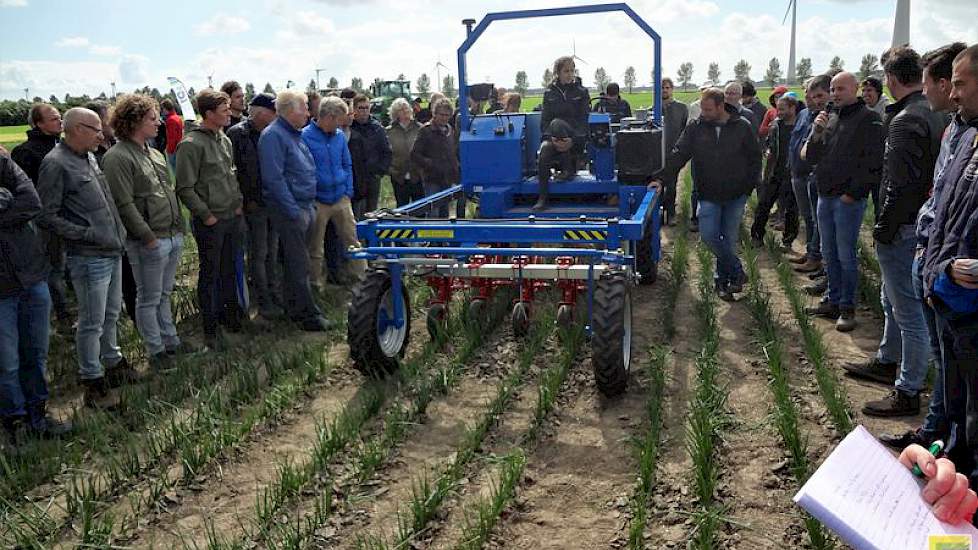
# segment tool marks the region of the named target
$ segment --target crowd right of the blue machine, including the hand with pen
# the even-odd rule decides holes
[[[689,227],[716,256],[716,290],[734,300],[746,281],[736,255],[740,223],[757,188],[751,244],[763,246],[771,210],[782,250],[821,296],[807,313],[856,328],[858,245],[867,204],[882,279],[883,336],[848,376],[888,386],[863,414],[917,416],[929,365],[934,391],[922,426],[880,434],[928,478],[923,495],[945,521],[978,509],[978,46],[923,55],[887,50],[884,78],[838,71],[810,79],[804,98],[779,87],[765,107],[750,83],[706,87],[689,109],[663,85],[664,215],[675,223],[675,182],[691,162]],[[889,91],[890,98],[884,93]],[[670,120],[672,119],[672,120]],[[688,124],[687,124],[688,120]],[[947,442],[945,457],[925,447]]]

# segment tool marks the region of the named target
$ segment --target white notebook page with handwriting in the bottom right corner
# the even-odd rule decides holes
[[[978,530],[938,520],[918,480],[858,426],[794,501],[856,550],[978,550]]]

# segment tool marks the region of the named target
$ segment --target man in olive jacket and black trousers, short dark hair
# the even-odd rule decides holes
[[[197,94],[203,121],[177,145],[177,195],[193,215],[191,229],[200,254],[197,296],[204,322],[204,343],[224,349],[218,331],[241,330],[242,310],[235,293],[235,262],[241,257],[244,221],[242,197],[235,178],[231,140],[224,128],[231,116],[223,92]]]

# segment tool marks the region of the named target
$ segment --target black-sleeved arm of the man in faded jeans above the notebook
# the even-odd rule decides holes
[[[899,221],[894,219],[900,215],[897,210],[907,200],[907,195],[920,191],[918,163],[923,151],[917,140],[926,135],[926,123],[917,117],[896,116],[890,121],[885,145],[886,189],[883,189],[883,205],[873,227],[873,238],[881,243],[893,242],[900,229]]]

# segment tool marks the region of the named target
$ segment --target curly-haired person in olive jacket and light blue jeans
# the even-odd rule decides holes
[[[136,328],[150,365],[169,370],[181,349],[170,309],[183,233],[180,204],[170,183],[166,159],[146,145],[160,125],[156,101],[147,95],[116,100],[112,128],[119,139],[105,154],[103,171],[126,227],[126,254],[136,279]]]

